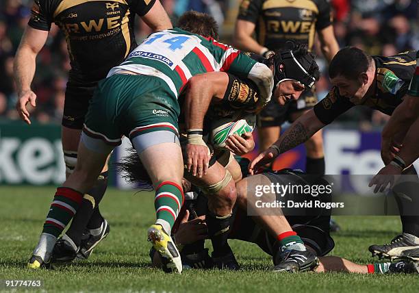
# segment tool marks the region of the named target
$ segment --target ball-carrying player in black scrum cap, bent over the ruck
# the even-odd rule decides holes
[[[183,20],[183,17],[179,20],[179,25],[181,25],[181,27],[184,27],[185,24]],[[284,94],[285,92],[289,92],[290,90],[292,90],[293,94],[298,96],[305,87],[303,83],[309,86],[309,83],[318,76],[318,69],[311,53],[300,48],[296,49],[293,54],[296,58],[295,60],[290,58],[290,51],[285,50],[279,52],[276,57],[272,56],[269,60],[264,60],[264,58],[260,56],[252,56],[257,60],[265,62],[268,66],[272,67],[272,69],[274,64],[276,64],[276,72],[283,72],[281,75],[275,75],[275,80],[278,84],[278,87],[274,91],[275,97]],[[299,68],[298,64],[294,64],[294,62],[299,62],[299,64],[307,68],[307,71],[314,77],[307,76],[303,71],[293,71],[291,69],[285,71],[285,68]],[[287,77],[286,79],[285,75]],[[284,80],[279,80],[279,78]],[[300,79],[303,83],[297,81]],[[207,87],[207,84],[211,84],[211,87]],[[300,90],[295,90],[293,84],[297,84],[298,87],[296,88]],[[213,212],[207,211],[207,225],[210,228],[210,231],[212,231],[210,234],[214,247],[213,259],[220,268],[238,268],[236,259],[233,258],[231,249],[226,245],[226,242],[231,218],[229,215],[231,215],[231,209],[236,197],[235,182],[242,178],[240,166],[238,166],[235,160],[231,160],[232,157],[229,151],[220,152],[215,150],[212,154],[212,162],[210,162],[210,168],[207,170],[206,175],[202,174],[203,168],[199,167],[195,167],[192,172],[189,172],[188,156],[192,157],[193,154],[190,155],[190,153],[188,153],[188,146],[190,146],[191,149],[193,149],[195,145],[201,146],[204,154],[208,152],[208,147],[211,149],[213,148],[210,146],[209,142],[204,142],[202,137],[199,137],[199,142],[196,142],[198,138],[197,134],[194,135],[194,140],[188,140],[187,133],[182,125],[185,125],[186,122],[192,122],[196,123],[195,127],[203,127],[203,131],[207,131],[204,127],[204,116],[205,121],[207,121],[220,118],[220,116],[229,116],[232,113],[237,112],[246,112],[248,114],[255,113],[263,106],[263,103],[259,104],[258,92],[255,84],[249,79],[242,80],[229,73],[206,73],[204,75],[192,77],[179,98],[179,101],[183,101],[183,105],[188,105],[188,107],[190,107],[190,109],[183,111],[183,115],[179,117],[179,123],[181,124],[180,129],[183,129],[183,131],[181,131],[181,133],[183,133],[183,136],[181,135],[181,145],[185,152],[183,153],[186,164],[184,176],[196,185],[199,185],[203,192],[208,195],[210,202],[214,197],[225,199],[221,205],[218,204],[219,207],[216,211],[217,214],[220,215],[218,218]],[[238,155],[244,155],[245,153],[252,151],[254,145],[251,133],[245,133],[244,138],[233,136],[227,140],[227,149]],[[136,158],[135,152],[133,156],[134,157],[129,159],[129,162],[132,162],[132,160]],[[190,161],[192,162],[192,158]],[[136,165],[141,165],[139,159],[136,160]],[[196,165],[200,164],[195,164],[195,166]],[[205,166],[205,162],[200,166]],[[145,173],[144,171],[145,170],[142,170],[142,173]],[[192,174],[193,172],[194,174]],[[227,217],[225,215],[227,215]],[[280,223],[280,225],[277,225],[277,222],[266,222],[264,225],[275,226],[272,228],[272,231],[275,232],[272,233],[279,235],[291,230],[285,218],[283,218],[283,221],[284,222]],[[219,231],[223,231],[223,233],[217,233]],[[303,249],[305,250],[304,247]],[[230,259],[229,256],[231,256]]]

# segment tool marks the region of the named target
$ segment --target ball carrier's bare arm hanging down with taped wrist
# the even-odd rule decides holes
[[[203,120],[212,101],[222,101],[229,83],[227,73],[212,72],[196,75],[188,81],[183,103],[185,125],[188,131],[186,155],[188,172],[202,177],[207,173],[210,154],[202,139]]]

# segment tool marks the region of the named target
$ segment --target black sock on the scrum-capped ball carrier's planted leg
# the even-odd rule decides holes
[[[228,216],[216,216],[212,212],[207,212],[205,222],[208,227],[208,235],[211,238],[213,257],[222,257],[231,252],[227,242],[230,233],[230,225],[232,222],[232,214]]]

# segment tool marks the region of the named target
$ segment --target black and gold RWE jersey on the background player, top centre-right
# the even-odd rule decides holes
[[[327,0],[242,0],[238,19],[255,23],[257,42],[271,50],[288,40],[312,50],[316,30],[332,23]]]

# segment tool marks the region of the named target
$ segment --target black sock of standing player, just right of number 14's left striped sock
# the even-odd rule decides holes
[[[68,237],[71,238],[71,240],[73,240],[73,242],[77,246],[80,245],[81,235],[83,235],[83,231],[86,229],[86,227],[89,227],[89,229],[95,229],[101,226],[102,222],[100,222],[99,225],[97,225],[99,217],[101,218],[101,220],[103,220],[98,207],[99,203],[103,198],[103,194],[105,194],[106,188],[107,172],[103,172],[97,179],[96,184],[93,186],[93,188],[89,190],[89,192],[87,192],[87,194],[92,196],[94,199],[94,208],[92,202],[89,199],[83,198],[81,206],[75,214],[70,227],[68,227],[66,234],[68,235]],[[93,218],[94,225],[90,225],[90,218],[93,214],[95,214]]]

